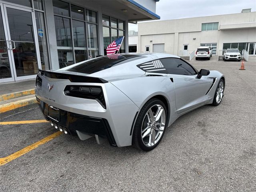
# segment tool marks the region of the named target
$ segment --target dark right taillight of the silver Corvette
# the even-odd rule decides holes
[[[106,109],[106,102],[101,86],[67,85],[64,89],[64,94],[71,97],[96,100]]]

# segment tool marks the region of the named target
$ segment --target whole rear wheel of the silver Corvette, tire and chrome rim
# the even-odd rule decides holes
[[[133,145],[144,151],[154,149],[162,140],[167,126],[165,104],[156,98],[148,100],[140,110],[134,125]]]

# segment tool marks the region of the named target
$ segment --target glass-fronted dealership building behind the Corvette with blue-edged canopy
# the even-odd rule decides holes
[[[0,83],[106,55],[128,22],[160,19],[159,0],[0,0]]]

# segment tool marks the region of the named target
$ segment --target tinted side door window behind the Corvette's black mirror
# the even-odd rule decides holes
[[[196,71],[192,66],[178,58],[160,59],[168,74],[176,75],[195,75]]]

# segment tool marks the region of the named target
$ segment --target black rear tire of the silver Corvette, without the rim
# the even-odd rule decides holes
[[[164,108],[164,112],[165,112],[165,126],[164,126],[164,130],[162,132],[162,135],[160,136],[160,139],[158,139],[158,142],[156,144],[154,144],[153,146],[146,146],[142,140],[142,123],[145,123],[144,117],[146,116],[146,113],[148,112],[148,110],[150,108],[152,108],[152,106],[159,104]],[[167,116],[167,110],[166,110],[166,106],[164,104],[164,102],[162,102],[159,99],[156,98],[152,98],[150,100],[148,100],[144,106],[142,107],[142,109],[140,110],[138,117],[136,119],[136,122],[134,124],[134,131],[133,131],[133,136],[132,136],[132,144],[139,150],[143,150],[143,151],[150,151],[152,149],[154,149],[156,146],[158,146],[158,144],[160,143],[160,141],[162,140],[163,136],[164,136],[164,132],[167,128],[167,122],[168,122],[168,116]],[[144,121],[144,122],[143,122]],[[146,137],[145,137],[146,138]]]

